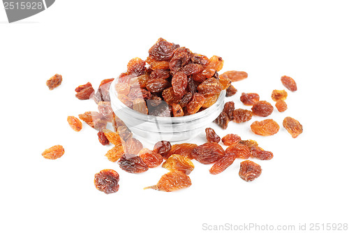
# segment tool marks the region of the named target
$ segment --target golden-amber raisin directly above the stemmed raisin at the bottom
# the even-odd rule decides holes
[[[194,170],[194,164],[191,162],[190,158],[181,156],[179,154],[172,154],[172,156],[170,156],[165,163],[163,163],[163,167],[165,167],[167,170],[177,170],[187,175]]]

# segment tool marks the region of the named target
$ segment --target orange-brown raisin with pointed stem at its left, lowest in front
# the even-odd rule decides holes
[[[152,188],[155,190],[172,192],[181,188],[188,188],[189,186],[191,186],[191,179],[189,176],[183,172],[171,171],[161,176],[155,186],[149,186],[144,189]]]

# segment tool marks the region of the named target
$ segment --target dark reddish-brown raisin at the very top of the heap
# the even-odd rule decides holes
[[[158,41],[149,49],[149,55],[157,61],[170,61],[174,50],[179,47],[174,43],[170,43],[163,38],[159,38]]]

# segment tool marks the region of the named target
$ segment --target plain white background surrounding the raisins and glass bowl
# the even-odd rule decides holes
[[[63,1],[43,13],[8,24],[0,9],[0,232],[205,232],[202,224],[296,225],[348,223],[348,3],[347,1]],[[261,100],[284,89],[293,77],[288,110],[267,118],[280,125],[294,117],[304,133],[292,139],[281,126],[274,136],[253,135],[261,117],[227,130],[257,140],[272,151],[261,176],[239,178],[240,160],[218,175],[195,163],[185,190],[143,190],[167,170],[128,174],[105,158],[96,130],[79,133],[66,122],[96,110],[77,100],[75,87],[117,77],[128,60],[147,57],[159,37],[193,52],[225,60],[226,70],[244,70],[229,98],[242,92]],[[49,91],[55,73],[63,83]],[[193,142],[205,142],[202,134]],[[41,153],[62,144],[66,153],[45,160]],[[147,145],[147,144],[146,144]],[[147,145],[149,146],[149,145]],[[151,145],[152,146],[152,145]],[[150,146],[149,146],[150,147]],[[105,195],[94,174],[114,169],[119,192]]]

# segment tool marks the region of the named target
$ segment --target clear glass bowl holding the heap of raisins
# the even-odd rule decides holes
[[[112,110],[135,135],[147,142],[166,140],[169,142],[186,142],[205,130],[208,123],[218,117],[224,107],[225,91],[214,105],[206,110],[184,117],[156,117],[142,114],[121,103],[115,90],[115,79],[110,85],[110,103]]]

